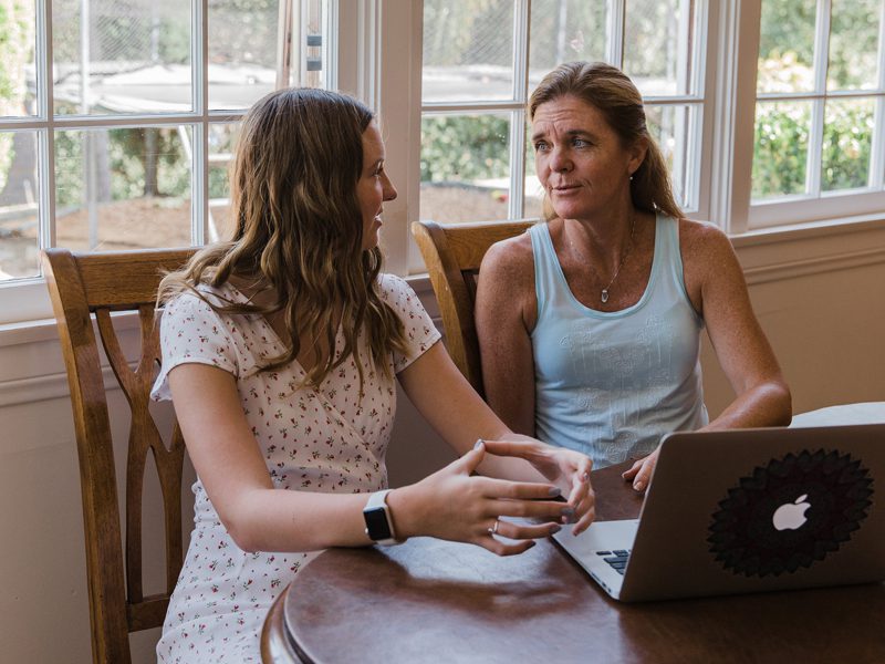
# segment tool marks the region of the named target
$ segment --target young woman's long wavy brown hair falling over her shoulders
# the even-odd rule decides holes
[[[301,339],[326,342],[327,359],[306,381],[319,385],[351,356],[360,372],[360,333],[371,360],[391,375],[389,354],[407,352],[403,321],[378,293],[382,253],[363,250],[356,185],[363,170],[362,136],[372,112],[355,98],[315,89],[268,94],[246,115],[231,169],[230,238],[198,251],[160,283],[158,303],[191,292],[225,314],[282,312],[289,343],[261,371],[294,361]],[[275,302],[259,305],[197,290],[238,278]],[[335,356],[339,314],[344,347]],[[362,392],[362,390],[361,390]]]

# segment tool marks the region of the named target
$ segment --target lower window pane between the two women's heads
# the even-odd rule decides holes
[[[420,218],[507,219],[509,115],[427,116],[421,121]]]

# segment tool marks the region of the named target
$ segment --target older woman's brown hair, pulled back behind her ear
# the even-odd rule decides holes
[[[538,106],[563,96],[579,98],[602,113],[625,149],[639,139],[646,141],[648,151],[645,159],[631,180],[631,197],[636,208],[647,212],[660,210],[675,219],[685,216],[673,195],[664,155],[648,133],[643,97],[624,72],[605,62],[561,64],[545,75],[532,92],[529,120],[534,120]],[[556,216],[546,194],[544,216],[548,219]]]

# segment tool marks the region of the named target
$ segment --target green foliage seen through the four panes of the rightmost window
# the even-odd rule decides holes
[[[878,0],[834,3],[827,87],[852,90],[875,77]],[[759,45],[761,91],[813,87],[815,3],[763,0]],[[808,102],[759,103],[752,196],[805,191],[811,107]],[[824,191],[867,186],[874,115],[867,103],[827,101],[821,155]]]

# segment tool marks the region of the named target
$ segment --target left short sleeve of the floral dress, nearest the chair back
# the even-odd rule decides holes
[[[169,301],[159,331],[163,364],[150,391],[155,401],[171,398],[169,372],[179,364],[208,364],[237,376],[237,352],[219,314],[192,293]]]

